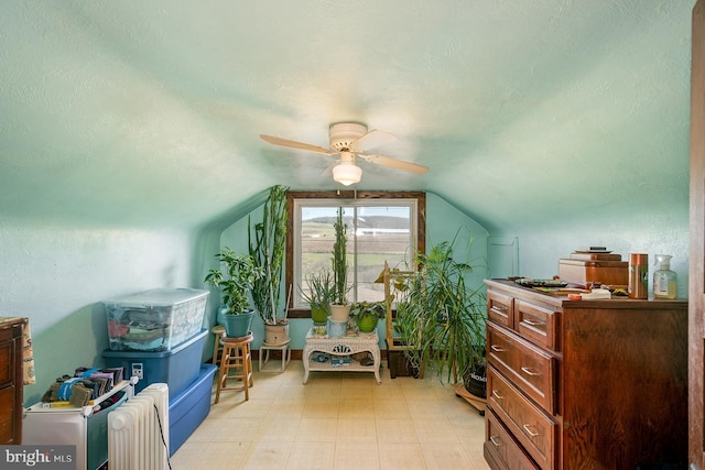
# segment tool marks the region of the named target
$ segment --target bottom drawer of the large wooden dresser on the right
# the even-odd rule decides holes
[[[499,418],[487,408],[485,414],[485,459],[494,463],[492,468],[503,470],[539,470],[505,429]]]

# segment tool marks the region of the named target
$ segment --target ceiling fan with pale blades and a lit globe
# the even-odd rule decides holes
[[[272,145],[305,150],[323,153],[325,155],[339,154],[340,157],[336,161],[336,165],[333,167],[333,179],[345,186],[359,183],[362,177],[362,168],[355,164],[356,156],[359,156],[369,163],[414,173],[416,175],[424,174],[429,171],[427,166],[404,162],[403,160],[391,159],[382,155],[368,155],[364,153],[368,150],[397,140],[397,136],[389,132],[377,129],[368,132],[367,125],[365,124],[357,122],[338,122],[328,128],[328,136],[330,139],[329,149],[324,149],[322,146],[303,142],[260,134],[260,138],[264,142],[271,143]]]

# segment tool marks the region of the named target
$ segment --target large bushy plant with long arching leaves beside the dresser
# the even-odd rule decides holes
[[[456,234],[457,238],[457,234]],[[398,304],[398,325],[411,364],[435,369],[448,383],[485,380],[486,297],[482,286],[473,287],[465,275],[473,267],[453,258],[452,242],[419,254],[420,274],[411,280],[408,296]],[[485,387],[477,387],[484,396]]]

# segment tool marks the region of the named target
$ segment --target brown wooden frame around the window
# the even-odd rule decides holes
[[[299,288],[293,285],[294,276],[294,200],[295,199],[328,199],[337,204],[346,204],[362,199],[415,199],[416,201],[416,251],[426,251],[426,194],[424,192],[384,192],[384,190],[289,190],[286,193],[286,211],[289,222],[286,227],[286,289],[293,292]],[[293,308],[293,294],[288,295],[289,318],[311,318],[311,309],[307,307]]]

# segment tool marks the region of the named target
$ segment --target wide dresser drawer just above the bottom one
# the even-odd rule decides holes
[[[553,469],[557,425],[494,368],[487,371],[487,401],[539,467]]]

